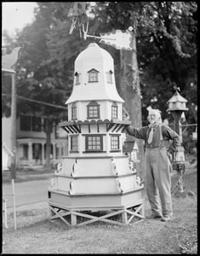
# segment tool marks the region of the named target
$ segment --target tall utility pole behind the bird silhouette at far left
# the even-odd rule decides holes
[[[16,69],[14,65],[14,70]],[[11,152],[14,156],[11,157],[11,172],[10,177],[16,177],[16,118],[17,118],[17,94],[16,94],[16,73],[11,74],[12,79],[12,99],[11,99]]]

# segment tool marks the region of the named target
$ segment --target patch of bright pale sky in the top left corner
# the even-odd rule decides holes
[[[15,29],[22,29],[34,20],[33,10],[36,2],[3,2],[2,31],[7,30],[10,36],[15,35]]]

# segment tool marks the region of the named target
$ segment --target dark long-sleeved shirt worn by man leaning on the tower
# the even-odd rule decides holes
[[[173,131],[168,125],[159,123],[153,126],[153,130],[154,132],[151,143],[148,143],[151,125],[141,128],[134,128],[132,125],[129,125],[126,131],[131,136],[143,139],[145,141],[145,148],[165,147],[169,154],[173,154],[177,151],[177,148],[180,145],[180,136],[175,131]]]

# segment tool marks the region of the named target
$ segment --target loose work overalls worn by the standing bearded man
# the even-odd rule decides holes
[[[146,137],[148,134],[149,132],[146,133]],[[154,131],[153,142],[154,146],[151,148],[146,138],[146,193],[153,214],[162,215],[163,212],[163,216],[172,216],[169,160],[163,143],[161,125]]]

